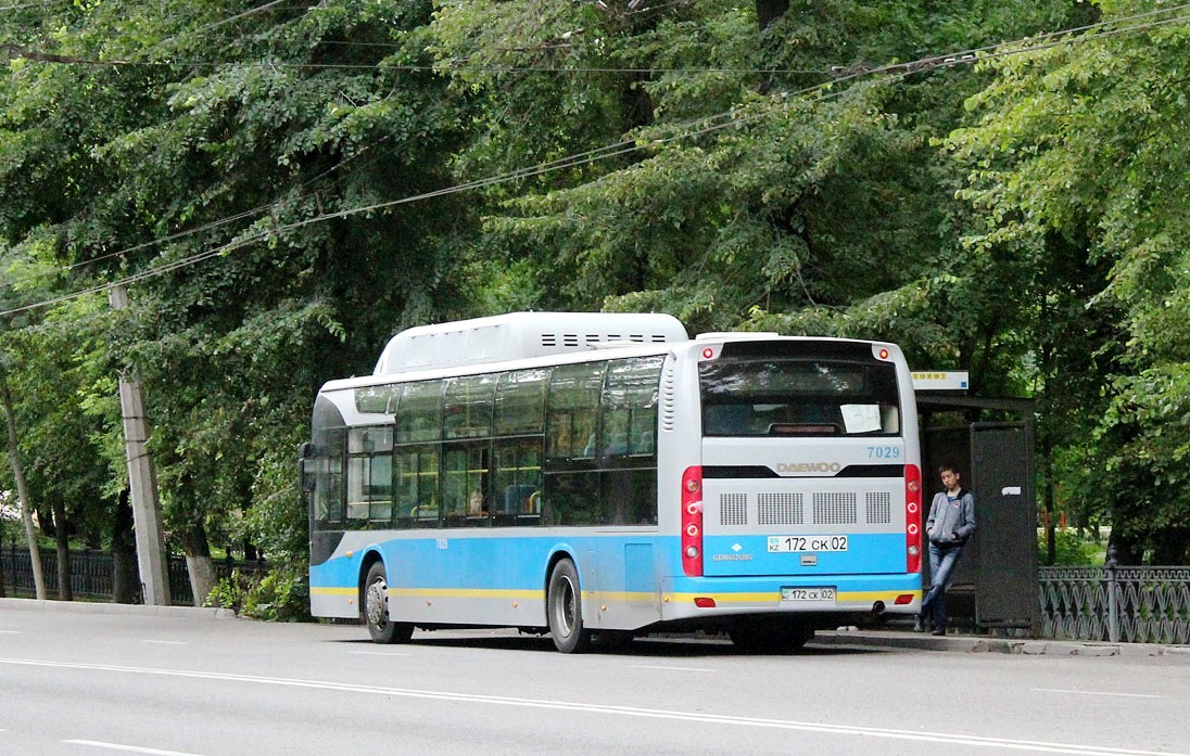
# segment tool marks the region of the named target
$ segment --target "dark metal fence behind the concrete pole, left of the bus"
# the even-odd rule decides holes
[[[51,549],[42,549],[42,578],[45,591],[57,597],[58,554]],[[215,560],[215,578],[230,578],[232,571],[240,574],[263,577],[268,565],[263,561]],[[20,547],[0,547],[0,572],[4,573],[4,590],[7,596],[36,596],[33,585],[33,563],[29,550]],[[109,601],[115,586],[115,557],[102,552],[70,553],[70,592],[75,600]],[[182,556],[169,557],[169,596],[175,606],[193,606],[194,594],[190,590],[190,575]],[[140,591],[136,592],[137,603],[142,603]]]

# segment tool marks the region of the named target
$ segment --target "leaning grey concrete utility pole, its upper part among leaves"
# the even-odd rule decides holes
[[[113,310],[129,305],[124,286],[113,286],[107,295]],[[144,393],[136,376],[120,373],[120,416],[124,424],[124,456],[129,465],[129,498],[132,502],[132,523],[137,536],[137,563],[144,601],[150,606],[169,606],[169,578],[165,561],[165,538],[161,529],[161,508],[157,505],[157,474],[149,454],[149,420],[145,417]]]

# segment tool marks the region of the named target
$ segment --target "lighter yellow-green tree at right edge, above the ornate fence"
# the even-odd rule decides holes
[[[1059,441],[1061,487],[1081,511],[1110,515],[1123,563],[1146,553],[1178,563],[1190,559],[1190,342],[1180,326],[1190,315],[1180,137],[1190,27],[1147,4],[1101,8],[1111,25],[989,61],[996,80],[969,103],[978,121],[948,145],[970,166],[963,196],[985,219],[975,247],[1060,239],[1090,273],[1070,322],[1090,321],[1091,339],[1053,367],[1050,385],[1063,372],[1107,367],[1078,392],[1100,389],[1106,402],[1069,404],[1094,427]]]

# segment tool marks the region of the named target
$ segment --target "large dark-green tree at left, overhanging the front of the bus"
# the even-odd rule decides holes
[[[458,126],[419,40],[431,10],[99,4],[0,24],[18,74],[0,196],[19,200],[0,238],[48,239],[69,290],[138,282],[134,311],[100,319],[104,360],[144,379],[200,600],[212,537],[251,508],[261,460],[292,456],[276,443],[296,447],[321,380],[451,307],[466,213],[393,203],[445,183]]]

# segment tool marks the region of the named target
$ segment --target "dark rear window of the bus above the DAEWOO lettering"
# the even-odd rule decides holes
[[[888,363],[775,357],[699,367],[707,436],[850,436],[901,431]]]

